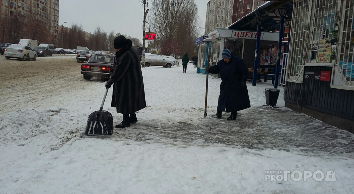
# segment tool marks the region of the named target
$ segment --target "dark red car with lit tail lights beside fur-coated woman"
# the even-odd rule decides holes
[[[81,65],[81,74],[85,80],[92,77],[106,81],[110,78],[110,70],[114,68],[114,55],[92,54],[87,63]]]

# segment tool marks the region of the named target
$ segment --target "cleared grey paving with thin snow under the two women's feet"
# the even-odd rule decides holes
[[[198,110],[200,115],[203,110]],[[125,129],[113,129],[112,140],[171,143],[199,146],[229,146],[256,150],[300,151],[306,155],[354,153],[354,135],[289,109],[251,107],[240,111],[235,121],[207,118],[191,122],[142,120]]]

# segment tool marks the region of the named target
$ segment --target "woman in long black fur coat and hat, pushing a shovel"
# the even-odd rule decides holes
[[[131,46],[131,40],[124,36],[114,39],[115,68],[106,88],[113,85],[111,107],[123,114],[123,121],[116,128],[130,127],[130,123],[138,122],[135,112],[146,107],[140,56]]]

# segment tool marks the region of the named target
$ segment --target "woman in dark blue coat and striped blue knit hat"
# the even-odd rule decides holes
[[[248,68],[243,59],[224,49],[222,60],[209,67],[209,73],[220,74],[220,95],[215,118],[220,119],[222,112],[230,113],[227,120],[236,120],[237,111],[251,107],[246,80]]]

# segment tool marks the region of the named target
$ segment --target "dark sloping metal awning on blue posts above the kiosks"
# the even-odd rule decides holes
[[[291,21],[292,16],[292,0],[269,0],[262,6],[253,10],[246,16],[237,20],[235,23],[226,28],[234,30],[251,30],[257,31],[258,21],[262,25],[263,32],[270,32],[280,28],[280,13],[281,8],[285,11],[285,25]],[[258,20],[258,21],[257,21]]]

